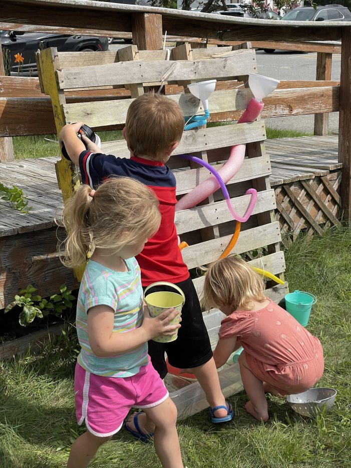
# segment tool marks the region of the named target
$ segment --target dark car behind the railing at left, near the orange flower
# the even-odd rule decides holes
[[[59,52],[107,51],[108,39],[90,36],[63,34],[25,33],[23,31],[0,31],[5,69],[10,75],[37,76],[35,53],[38,49],[57,47]],[[21,54],[23,62],[16,63],[15,55]]]

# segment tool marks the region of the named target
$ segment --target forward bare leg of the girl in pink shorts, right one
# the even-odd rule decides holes
[[[155,425],[154,446],[163,468],[183,468],[176,428],[177,408],[171,398],[144,411]]]

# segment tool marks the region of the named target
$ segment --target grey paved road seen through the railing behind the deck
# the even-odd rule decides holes
[[[110,45],[110,50],[118,50],[127,44],[120,40]],[[332,56],[331,79],[340,79],[340,55]],[[275,51],[266,54],[256,52],[258,73],[277,80],[315,80],[316,53],[297,54],[289,51]],[[275,129],[298,130],[313,133],[313,115],[266,119],[266,125]],[[337,130],[338,113],[329,114],[329,131]]]

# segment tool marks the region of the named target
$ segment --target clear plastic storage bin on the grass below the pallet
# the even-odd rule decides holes
[[[213,309],[209,314],[204,314],[204,321],[212,348],[217,344],[218,330],[224,317],[225,315],[218,309]],[[219,381],[225,397],[243,389],[239,364],[233,363],[233,354],[229,357],[226,364],[218,369]],[[208,407],[205,393],[197,381],[190,381],[182,377],[167,374],[165,384],[170,397],[177,406],[178,418],[190,416]]]

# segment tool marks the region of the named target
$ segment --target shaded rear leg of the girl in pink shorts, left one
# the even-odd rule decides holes
[[[67,468],[86,468],[93,459],[100,445],[110,440],[112,437],[98,437],[89,430],[84,432],[71,447]]]

